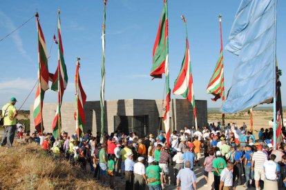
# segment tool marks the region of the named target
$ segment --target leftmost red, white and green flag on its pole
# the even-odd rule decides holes
[[[43,114],[42,114],[43,101],[44,101],[45,91],[49,88],[48,54],[47,54],[44,34],[41,31],[41,25],[39,24],[38,13],[36,13],[36,22],[37,22],[37,33],[38,33],[39,70],[38,70],[38,85],[34,102],[33,118],[35,123],[35,129],[39,132],[43,132],[44,131]]]

